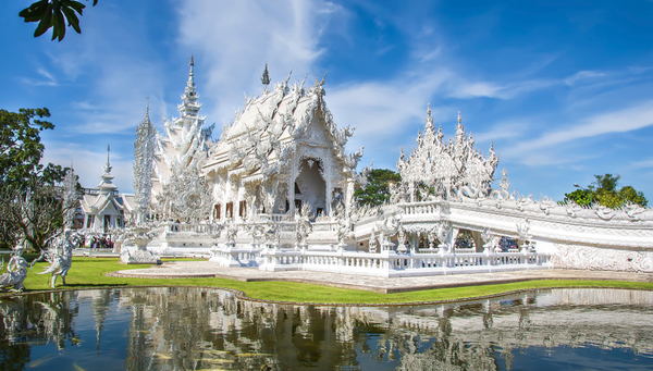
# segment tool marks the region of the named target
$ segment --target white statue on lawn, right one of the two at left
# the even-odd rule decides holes
[[[73,262],[73,248],[82,236],[74,233],[73,230],[62,230],[48,238],[44,245],[49,245],[47,250],[42,250],[40,257],[32,262],[30,268],[39,260],[45,259],[50,263],[42,272],[36,274],[52,274],[50,287],[54,288],[57,276],[61,276],[61,282],[65,286],[65,276]]]

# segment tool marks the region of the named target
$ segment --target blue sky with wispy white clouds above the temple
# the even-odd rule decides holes
[[[146,97],[161,131],[178,115],[195,55],[207,123],[223,124],[273,82],[326,75],[326,103],[357,127],[361,165],[396,169],[430,102],[446,136],[467,132],[500,156],[513,189],[562,199],[594,174],[619,174],[653,197],[651,1],[163,1],[87,2],[82,35],[62,42],[0,8],[0,107],[47,107],[46,161],[74,162],[83,186],[111,145],[115,183],[131,191],[133,141]]]

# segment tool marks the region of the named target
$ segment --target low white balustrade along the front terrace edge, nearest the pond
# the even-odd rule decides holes
[[[378,276],[483,273],[551,268],[551,256],[537,252],[397,253],[383,251],[261,251],[267,271],[319,271]]]

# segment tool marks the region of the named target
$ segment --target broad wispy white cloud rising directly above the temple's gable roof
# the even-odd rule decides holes
[[[250,95],[261,89],[267,62],[272,82],[293,70],[300,79],[325,52],[320,34],[338,7],[330,2],[287,0],[186,1],[180,4],[178,42],[201,55],[196,62],[207,76],[198,76],[200,94],[220,97],[213,120],[227,118],[243,104],[237,91]]]

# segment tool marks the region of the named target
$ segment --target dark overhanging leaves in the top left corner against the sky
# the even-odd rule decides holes
[[[97,3],[98,0],[93,0],[94,7]],[[23,9],[19,16],[25,18],[25,22],[38,22],[34,37],[39,37],[52,28],[52,40],[59,38],[61,41],[65,36],[65,21],[69,22],[69,27],[82,34],[77,14],[82,15],[85,8],[85,4],[75,0],[39,0]]]

